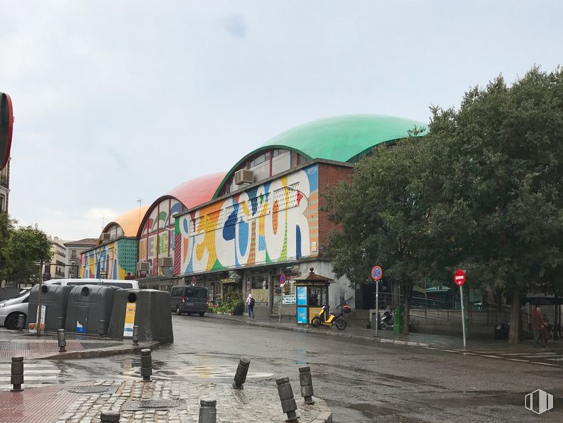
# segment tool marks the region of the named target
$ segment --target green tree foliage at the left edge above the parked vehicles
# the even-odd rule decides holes
[[[49,262],[52,255],[45,232],[31,226],[17,226],[6,213],[0,213],[0,236],[0,279],[37,280],[37,263]]]

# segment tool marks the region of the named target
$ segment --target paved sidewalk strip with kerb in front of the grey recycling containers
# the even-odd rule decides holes
[[[59,353],[57,336],[47,333],[40,338],[26,332],[17,333],[0,329],[0,361],[12,357],[61,360],[71,358],[105,357],[125,353],[138,353],[143,348],[158,348],[158,342],[139,342],[133,346],[131,340],[98,338],[95,336],[66,334],[66,353]]]

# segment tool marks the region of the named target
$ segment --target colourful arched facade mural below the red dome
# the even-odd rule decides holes
[[[159,274],[158,257],[172,257],[174,255],[175,216],[185,210],[186,208],[180,201],[167,198],[154,205],[153,210],[144,222],[139,238],[138,261],[151,264],[148,275],[156,276]]]

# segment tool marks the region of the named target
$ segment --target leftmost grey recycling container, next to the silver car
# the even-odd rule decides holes
[[[65,323],[65,318],[67,316],[67,303],[72,291],[72,287],[63,287],[62,285],[41,285],[41,306],[43,306],[43,311],[41,311],[41,321],[45,323],[44,331],[58,330],[58,317],[62,317],[62,324]],[[28,305],[28,323],[37,323],[37,306],[39,304],[39,285],[35,285],[31,288],[29,293],[29,305]]]

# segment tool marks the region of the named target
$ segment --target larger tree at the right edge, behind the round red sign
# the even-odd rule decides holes
[[[426,140],[444,183],[432,232],[468,278],[511,292],[513,343],[525,289],[563,274],[562,124],[562,70],[532,68],[511,87],[497,77],[470,90],[459,110],[434,108]]]

